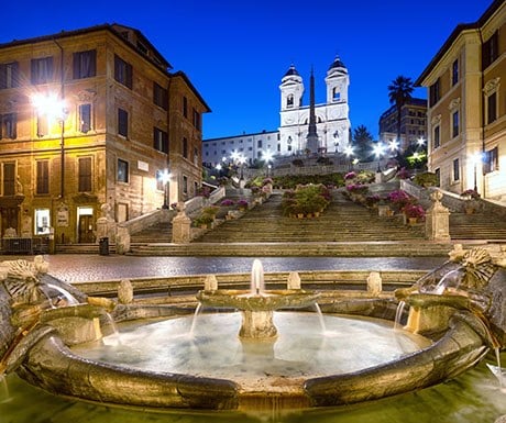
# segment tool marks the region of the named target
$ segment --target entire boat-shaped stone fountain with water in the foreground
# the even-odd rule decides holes
[[[263,286],[215,277],[193,308],[90,298],[29,263],[0,283],[0,374],[15,371],[57,394],[153,409],[260,410],[341,405],[437,385],[506,344],[506,269],[482,248],[450,260],[395,296]],[[451,276],[449,276],[451,274]],[[65,298],[53,308],[47,290]],[[65,296],[66,297],[66,296]],[[68,297],[67,297],[68,298]],[[398,302],[408,316],[399,316]],[[318,304],[323,313],[323,333]],[[112,332],[106,310],[121,332]],[[239,310],[235,311],[235,310]],[[239,336],[238,336],[239,333]],[[501,366],[501,365],[499,365]],[[501,371],[501,370],[497,370]]]

